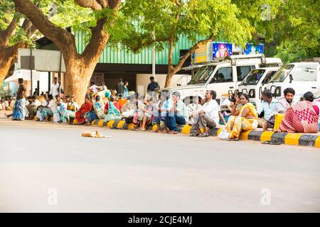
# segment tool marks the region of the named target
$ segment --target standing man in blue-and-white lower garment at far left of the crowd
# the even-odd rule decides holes
[[[13,121],[24,121],[26,116],[26,87],[23,85],[23,79],[18,79],[18,92],[16,93],[16,102],[14,103],[14,113],[12,113]]]

